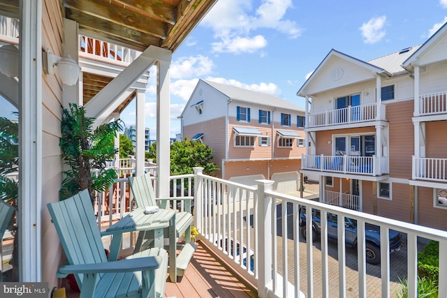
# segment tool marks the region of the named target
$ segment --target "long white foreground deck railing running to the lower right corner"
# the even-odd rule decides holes
[[[195,174],[170,177],[173,190],[180,190],[180,193],[173,191],[172,195],[183,192],[194,195],[194,225],[200,232],[200,241],[206,242],[215,253],[257,285],[259,297],[300,297],[301,292],[306,297],[346,297],[346,271],[352,269],[358,279],[358,297],[373,297],[372,290],[375,297],[394,295],[399,284],[390,281],[395,265],[390,261],[390,230],[397,230],[406,238],[406,255],[402,258],[404,264],[399,264],[404,271],[398,277],[408,278],[408,297],[417,296],[417,244],[420,238],[439,241],[439,281],[447,278],[447,255],[444,253],[447,250],[446,231],[276,193],[272,191],[273,181],[261,180],[258,186],[250,187],[204,175],[200,168],[195,171]],[[129,194],[130,200],[131,197]],[[126,197],[122,195],[120,198]],[[126,199],[123,206],[127,206],[127,202]],[[365,223],[378,225],[381,231],[379,283],[371,286],[374,278],[367,271],[365,241],[358,241],[354,253],[355,268],[348,268],[346,259],[350,252],[346,251],[344,225],[337,228],[339,237],[337,246],[334,246],[337,250],[337,269],[330,271],[328,260],[334,256],[329,255],[329,248],[334,248],[328,245],[327,234],[318,236],[320,241],[316,246],[312,239],[312,221],[307,221],[305,229],[308,239],[304,243],[299,240],[300,207],[306,207],[307,218],[311,218],[312,209],[321,212],[323,231],[328,228],[328,213],[337,215],[339,223],[344,222],[345,217],[356,220],[358,239],[366,234]],[[321,274],[316,275],[317,271]],[[318,281],[314,280],[316,278]],[[337,283],[337,294],[330,292],[331,289],[333,291],[334,281]],[[332,288],[329,287],[330,283]],[[447,297],[447,283],[439,283],[439,297]]]

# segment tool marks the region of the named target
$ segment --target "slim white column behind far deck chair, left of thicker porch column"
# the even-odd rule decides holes
[[[136,175],[145,174],[145,91],[137,90],[136,96],[136,133],[135,133],[135,161]]]

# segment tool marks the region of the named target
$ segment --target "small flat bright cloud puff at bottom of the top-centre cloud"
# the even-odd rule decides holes
[[[222,38],[220,42],[212,43],[212,49],[214,52],[221,53],[254,53],[266,45],[267,40],[261,35],[254,36],[253,38],[237,36],[235,38]]]

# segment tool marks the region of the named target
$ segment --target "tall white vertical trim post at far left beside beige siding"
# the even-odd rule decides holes
[[[42,1],[21,1],[19,223],[20,281],[42,279]],[[45,207],[46,208],[46,207]]]

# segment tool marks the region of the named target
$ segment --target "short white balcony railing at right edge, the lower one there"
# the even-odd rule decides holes
[[[447,182],[447,158],[413,156],[413,179]]]

